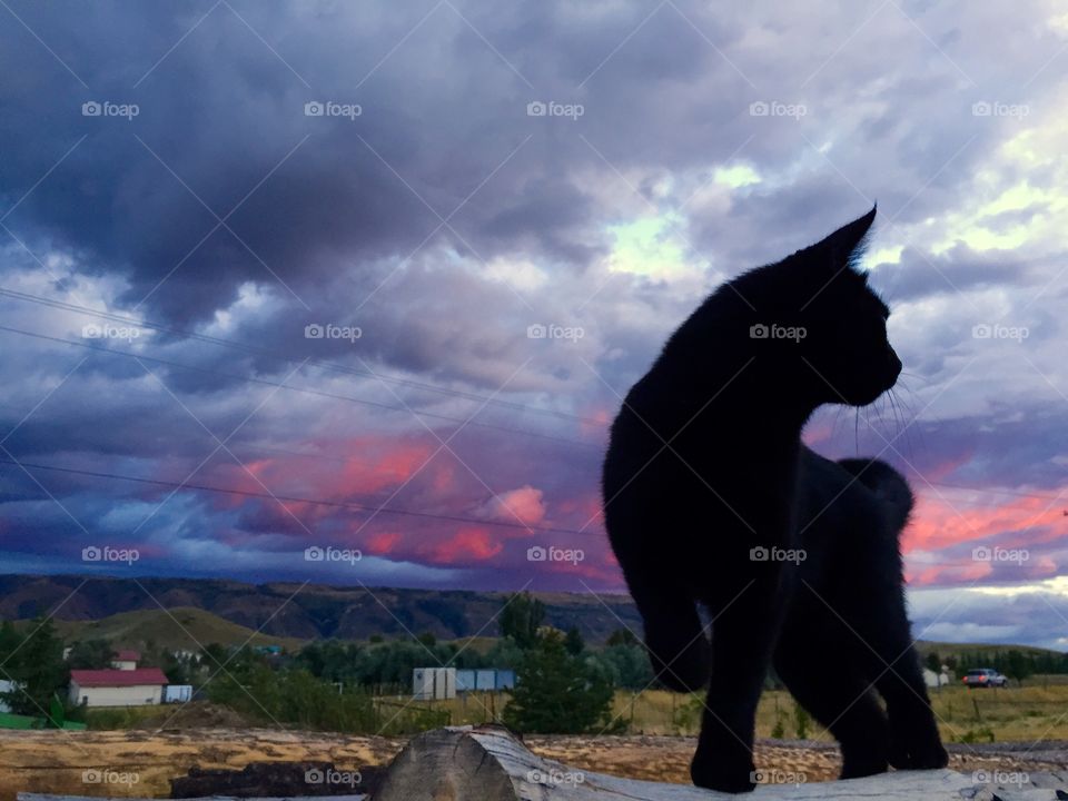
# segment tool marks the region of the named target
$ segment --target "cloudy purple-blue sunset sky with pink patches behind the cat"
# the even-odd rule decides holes
[[[1068,647],[1062,7],[0,6],[3,572],[621,592],[627,388],[878,200],[904,373],[805,441],[917,635]]]

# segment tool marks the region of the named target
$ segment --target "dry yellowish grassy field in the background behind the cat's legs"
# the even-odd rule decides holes
[[[663,690],[642,693],[619,691],[614,712],[632,734],[694,735],[701,728],[702,696]],[[397,699],[399,703],[406,699]],[[931,691],[939,729],[947,742],[1007,742],[1068,740],[1068,683],[1064,676],[1028,680],[1022,688],[967,690],[945,686]],[[415,702],[447,709],[453,724],[485,723],[500,715],[507,693],[478,693],[451,701]],[[771,738],[777,721],[782,736],[832,740],[814,721],[798,728],[793,699],[784,691],[768,691],[756,712],[756,736]]]

